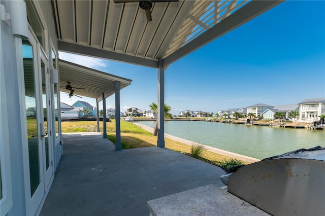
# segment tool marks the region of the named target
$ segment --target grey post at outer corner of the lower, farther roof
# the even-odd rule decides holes
[[[120,88],[121,83],[119,81],[115,81],[115,150],[122,150],[121,143],[121,118],[120,118]]]

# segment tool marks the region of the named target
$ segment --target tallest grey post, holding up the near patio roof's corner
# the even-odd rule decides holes
[[[165,68],[161,61],[159,61],[158,67],[158,140],[157,147],[165,147],[165,126],[164,126],[164,117],[165,117]]]

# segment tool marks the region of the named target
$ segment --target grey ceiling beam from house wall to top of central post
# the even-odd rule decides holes
[[[96,49],[92,47],[86,47],[78,44],[58,41],[58,50],[68,53],[81,54],[86,56],[104,58],[109,60],[121,61],[131,64],[137,64],[141,66],[158,68],[158,60],[141,58],[138,56],[131,56],[122,53],[116,53],[107,50]]]

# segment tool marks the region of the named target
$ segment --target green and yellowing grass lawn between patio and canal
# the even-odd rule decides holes
[[[62,122],[61,125],[62,133],[97,131],[95,121]],[[108,139],[115,143],[115,119],[112,119],[111,122],[107,122],[106,127]],[[103,133],[103,122],[100,122],[100,132]],[[154,147],[157,145],[157,137],[136,126],[132,122],[121,121],[121,143],[122,149]],[[191,153],[191,146],[168,138],[165,138],[165,147],[176,152]],[[207,150],[202,151],[201,157],[203,160],[212,162],[231,159],[231,157],[209,152]]]

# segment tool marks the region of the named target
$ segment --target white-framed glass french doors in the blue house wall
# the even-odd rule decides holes
[[[30,200],[27,198],[27,202],[30,202],[26,204],[27,211],[34,214],[48,190],[53,169],[52,141],[49,134],[51,123],[48,123],[48,119],[50,120],[48,59],[31,31],[29,39],[22,40],[22,57],[30,183]],[[27,191],[26,193],[29,194]]]

